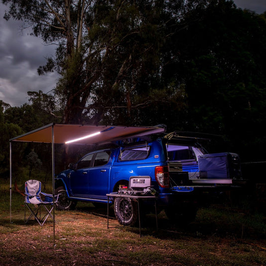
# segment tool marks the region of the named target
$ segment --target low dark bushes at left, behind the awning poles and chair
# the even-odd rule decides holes
[[[49,103],[47,101],[49,96],[43,96],[44,93],[41,91],[32,92],[30,95],[31,104],[25,103],[20,107],[11,107],[0,101],[0,147],[2,151],[0,155],[0,173],[5,178],[9,176],[9,139],[51,122],[58,122],[54,114],[48,113],[47,111],[46,106]],[[53,104],[55,103],[53,102]],[[56,113],[56,108],[53,108],[53,111]],[[44,171],[44,173],[49,173],[52,153],[50,146],[47,144],[41,144],[40,146],[33,143],[12,143],[11,158],[13,176],[17,178],[19,175],[18,169],[21,169],[23,164],[28,164],[27,156],[31,153],[32,149],[35,150],[43,162],[39,170]],[[30,172],[33,166],[32,163],[30,164]]]

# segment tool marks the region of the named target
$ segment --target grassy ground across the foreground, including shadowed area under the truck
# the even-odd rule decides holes
[[[43,227],[24,224],[23,196],[0,190],[1,266],[262,266],[266,265],[266,217],[224,205],[201,208],[196,221],[177,227],[165,213],[138,228],[118,224],[107,209],[78,203],[74,211],[56,211]],[[55,244],[55,245],[54,245]]]

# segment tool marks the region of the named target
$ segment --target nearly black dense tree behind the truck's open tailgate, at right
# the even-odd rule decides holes
[[[172,39],[179,56],[165,70],[184,84],[186,130],[225,135],[243,160],[264,160],[265,14],[220,0],[184,20],[187,26]]]

